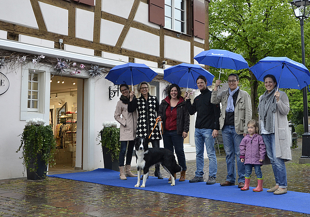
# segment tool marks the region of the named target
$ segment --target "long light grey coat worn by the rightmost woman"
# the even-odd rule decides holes
[[[275,146],[276,156],[284,159],[285,161],[292,160],[291,155],[291,142],[290,142],[290,130],[287,121],[287,115],[290,111],[289,98],[286,93],[279,91],[280,97],[277,102],[277,109],[275,113]],[[260,96],[261,102],[263,95]],[[259,116],[259,125],[261,128],[261,116]],[[264,162],[268,164],[268,162]]]

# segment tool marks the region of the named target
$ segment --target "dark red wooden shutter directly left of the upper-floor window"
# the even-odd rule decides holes
[[[149,21],[165,26],[165,1],[149,0]]]

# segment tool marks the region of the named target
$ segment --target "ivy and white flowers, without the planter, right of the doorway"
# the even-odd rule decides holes
[[[115,122],[105,122],[102,125],[103,129],[98,135],[101,139],[100,143],[102,147],[109,149],[106,154],[110,154],[113,161],[114,159],[118,159],[120,155],[120,128],[117,127]]]

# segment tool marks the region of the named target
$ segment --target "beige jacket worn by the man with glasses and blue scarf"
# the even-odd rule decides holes
[[[219,128],[222,129],[226,116],[227,100],[229,89],[217,95],[217,91],[212,91],[211,103],[222,104],[221,115],[219,117]],[[252,118],[251,98],[246,91],[239,89],[239,94],[234,107],[234,127],[237,134],[248,133],[247,124]]]

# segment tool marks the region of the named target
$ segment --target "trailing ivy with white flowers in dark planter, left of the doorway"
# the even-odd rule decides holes
[[[43,119],[29,119],[21,134],[21,144],[16,152],[22,150],[20,158],[27,169],[27,179],[45,179],[48,163],[53,164],[56,140],[52,127],[44,124]]]

